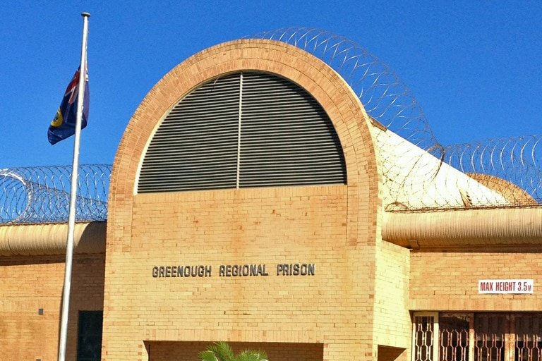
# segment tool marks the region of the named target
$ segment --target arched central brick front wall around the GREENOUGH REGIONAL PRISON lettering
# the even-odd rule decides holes
[[[134,195],[159,119],[200,82],[244,69],[277,73],[313,94],[341,139],[348,185]],[[324,360],[373,360],[379,207],[366,114],[337,73],[300,49],[264,40],[196,54],[145,97],[114,161],[102,357],[147,360],[145,342],[231,341],[324,345]],[[404,262],[397,250],[383,254],[383,262]],[[277,275],[277,264],[290,263],[315,264],[315,274]],[[265,264],[269,276],[220,277],[225,264]],[[153,267],[184,265],[210,265],[213,275],[152,276]],[[402,326],[394,327],[387,342],[403,344]]]

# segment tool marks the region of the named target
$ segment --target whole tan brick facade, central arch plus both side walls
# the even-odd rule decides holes
[[[347,184],[137,194],[162,118],[202,82],[236,71],[275,73],[318,100],[339,135]],[[541,310],[536,288],[498,297],[476,290],[487,278],[536,286],[535,241],[445,252],[382,239],[371,134],[346,82],[296,47],[238,40],[176,66],[122,137],[105,255],[74,258],[67,359],[76,359],[81,310],[103,310],[102,360],[112,361],[195,360],[214,341],[236,352],[262,348],[270,361],[406,361],[412,312]],[[0,360],[56,360],[63,281],[64,255],[0,257]]]

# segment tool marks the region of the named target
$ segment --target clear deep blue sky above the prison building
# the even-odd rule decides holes
[[[196,52],[282,27],[347,37],[399,75],[443,145],[541,134],[542,1],[2,1],[0,169],[69,165],[47,127],[88,37],[80,164],[112,164],[145,94]]]

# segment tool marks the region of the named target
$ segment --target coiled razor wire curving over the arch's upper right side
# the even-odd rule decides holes
[[[368,115],[409,142],[441,157],[433,135],[411,91],[376,56],[346,37],[310,27],[287,27],[251,36],[294,45],[333,68],[359,97]]]

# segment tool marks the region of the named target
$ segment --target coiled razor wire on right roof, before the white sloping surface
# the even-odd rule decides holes
[[[442,161],[397,135],[378,137],[387,211],[541,205],[540,135],[450,145]]]

